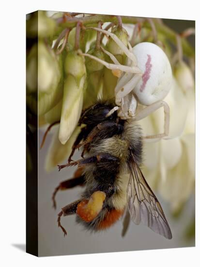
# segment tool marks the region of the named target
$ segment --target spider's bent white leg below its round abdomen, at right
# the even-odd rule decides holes
[[[144,137],[145,139],[157,139],[157,138],[163,138],[169,135],[169,105],[165,101],[157,101],[145,107],[138,114],[136,114],[135,120],[141,120],[149,116],[150,114],[152,114],[154,111],[156,111],[157,109],[161,107],[164,108],[164,116],[165,116],[164,117],[164,133],[147,135]]]

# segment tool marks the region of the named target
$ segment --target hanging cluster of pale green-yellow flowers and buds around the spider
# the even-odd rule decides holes
[[[113,33],[129,49],[141,42],[155,43],[169,59],[173,79],[164,99],[170,108],[169,135],[144,143],[143,169],[148,183],[175,212],[194,191],[194,51],[186,40],[193,29],[178,35],[160,19],[34,13],[27,20],[28,37],[34,40],[38,36],[27,54],[27,106],[29,117],[36,115],[39,125],[54,128],[46,171],[66,161],[80,133],[77,123],[82,110],[97,100],[114,98],[118,79],[126,69],[127,53],[120,43],[91,26]],[[116,67],[119,65],[123,70]],[[161,133],[162,109],[140,124],[144,135]]]

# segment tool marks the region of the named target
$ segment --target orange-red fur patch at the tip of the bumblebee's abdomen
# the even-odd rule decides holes
[[[98,224],[98,230],[104,230],[112,226],[123,215],[124,210],[111,210],[108,211],[104,219]]]

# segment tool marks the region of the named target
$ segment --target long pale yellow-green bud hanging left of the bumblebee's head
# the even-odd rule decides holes
[[[83,92],[86,81],[86,68],[83,56],[77,51],[67,53],[64,69],[66,79],[62,99],[59,140],[64,145],[77,127],[83,106]]]

